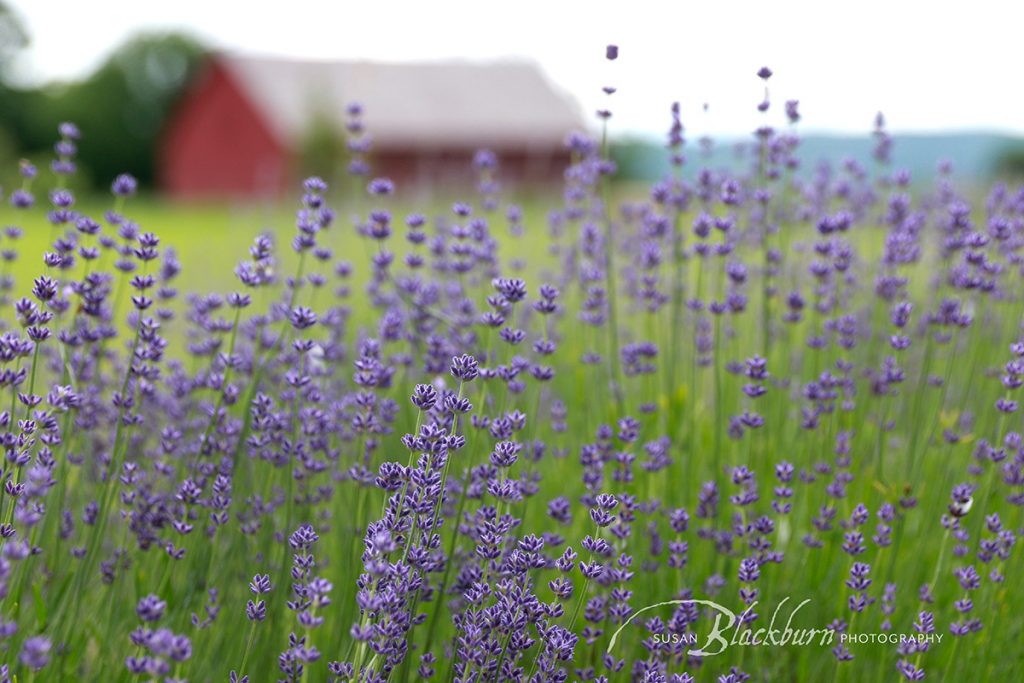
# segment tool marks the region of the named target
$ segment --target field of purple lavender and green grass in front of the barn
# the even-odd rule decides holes
[[[62,125],[0,208],[0,681],[1018,680],[1024,187],[881,116],[802,167],[753,72],[736,170],[674,106],[615,184],[609,87],[560,191],[416,206],[353,103],[358,196],[228,234],[83,203]]]

